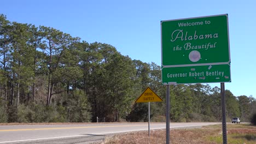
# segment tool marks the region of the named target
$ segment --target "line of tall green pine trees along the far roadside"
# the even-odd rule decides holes
[[[147,103],[135,103],[152,88],[164,102],[152,103],[152,121],[165,121],[166,87],[161,67],[123,56],[115,47],[87,43],[55,28],[10,22],[0,15],[0,122],[147,121]],[[171,86],[171,121],[220,121],[220,89]],[[226,90],[227,119],[249,121],[256,100]]]

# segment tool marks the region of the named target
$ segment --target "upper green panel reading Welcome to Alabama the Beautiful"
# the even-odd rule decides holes
[[[161,21],[162,67],[229,64],[228,14]]]

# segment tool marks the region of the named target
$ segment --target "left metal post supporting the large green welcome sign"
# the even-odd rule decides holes
[[[166,85],[166,144],[170,143],[170,85]]]

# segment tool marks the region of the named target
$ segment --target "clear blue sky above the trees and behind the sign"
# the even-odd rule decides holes
[[[122,55],[161,65],[161,20],[228,14],[231,80],[235,96],[256,98],[256,1],[8,0],[0,14],[9,21],[60,29],[73,37],[107,43]],[[212,83],[220,87],[220,83]]]

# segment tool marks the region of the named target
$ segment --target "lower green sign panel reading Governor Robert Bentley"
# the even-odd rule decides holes
[[[164,85],[211,82],[231,82],[230,65],[197,65],[162,68],[162,83]]]

